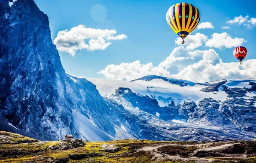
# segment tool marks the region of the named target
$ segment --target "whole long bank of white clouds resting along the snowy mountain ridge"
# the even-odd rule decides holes
[[[177,67],[177,71],[174,71]],[[256,59],[223,63],[213,49],[189,51],[183,46],[174,51],[158,66],[142,64],[139,60],[120,65],[108,65],[98,72],[106,78],[133,80],[145,75],[160,75],[168,78],[181,78],[192,82],[209,82],[229,78],[256,78]]]

